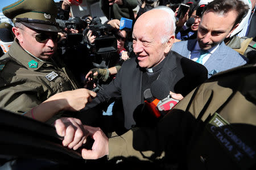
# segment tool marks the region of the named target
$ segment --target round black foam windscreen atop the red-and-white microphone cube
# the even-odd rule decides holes
[[[168,95],[170,95],[170,90],[167,86],[167,83],[164,82],[163,80],[155,80],[150,87],[152,95],[158,99],[158,100],[163,100],[165,99]]]

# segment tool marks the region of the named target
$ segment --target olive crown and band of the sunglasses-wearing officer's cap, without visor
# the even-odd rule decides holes
[[[10,19],[30,18],[55,22],[57,16],[57,7],[53,0],[19,0],[4,7],[2,11]]]

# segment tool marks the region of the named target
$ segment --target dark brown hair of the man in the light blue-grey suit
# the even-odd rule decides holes
[[[242,21],[243,17],[246,16],[249,6],[245,5],[245,3],[240,0],[214,0],[204,7],[203,15],[211,11],[216,12],[217,14],[226,14],[231,10],[237,12],[237,19],[233,25],[234,27]]]

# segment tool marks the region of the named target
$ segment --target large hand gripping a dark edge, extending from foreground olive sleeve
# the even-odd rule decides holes
[[[72,117],[59,118],[54,126],[57,134],[64,137],[63,146],[73,150],[85,144],[86,138],[94,139],[91,150],[82,148],[82,158],[98,159],[109,154],[109,139],[100,128],[82,125],[79,119]]]

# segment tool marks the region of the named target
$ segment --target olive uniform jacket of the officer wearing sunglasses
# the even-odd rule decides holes
[[[62,63],[54,56],[49,61],[32,57],[14,40],[9,52],[0,58],[0,107],[15,113],[24,113],[58,92],[75,90],[76,82]],[[34,60],[38,66],[31,68]],[[48,80],[49,73],[57,76]]]

